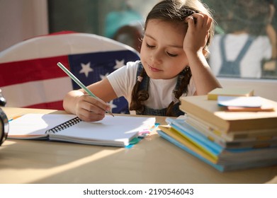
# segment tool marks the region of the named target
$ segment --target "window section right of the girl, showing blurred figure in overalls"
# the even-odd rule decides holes
[[[277,100],[277,1],[204,2],[217,21],[209,64],[222,86],[252,87]]]

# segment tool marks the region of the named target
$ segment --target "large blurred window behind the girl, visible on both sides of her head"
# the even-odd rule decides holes
[[[50,33],[94,33],[136,48],[133,40],[142,34],[144,19],[158,1],[48,0]],[[208,62],[222,86],[250,86],[256,95],[277,100],[277,1],[203,2],[217,21]]]

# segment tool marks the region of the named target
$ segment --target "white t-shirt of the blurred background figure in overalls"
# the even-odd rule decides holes
[[[225,40],[227,61],[237,59],[239,52],[247,42],[248,34],[228,34]],[[220,54],[220,39],[222,35],[215,35],[210,50],[210,68],[217,76],[220,72],[222,57]],[[242,78],[261,78],[261,60],[270,59],[272,53],[271,43],[267,36],[260,35],[251,43],[240,63],[240,76]]]

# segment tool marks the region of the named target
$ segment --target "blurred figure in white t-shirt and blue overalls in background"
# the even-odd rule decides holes
[[[222,10],[215,16],[222,33],[215,35],[209,47],[213,73],[224,77],[261,78],[264,62],[276,57],[271,2],[230,0],[218,1],[218,4]]]

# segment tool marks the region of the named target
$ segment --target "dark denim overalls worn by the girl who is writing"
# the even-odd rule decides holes
[[[140,63],[138,68],[137,68],[137,76],[140,76],[140,73],[142,72],[142,69],[143,69],[143,66]],[[180,74],[183,75],[183,72],[185,72],[185,71],[182,71]],[[179,76],[180,76],[180,74],[179,74]],[[175,89],[179,87],[180,81],[181,80],[178,77]],[[145,75],[142,78],[142,82],[140,83],[140,90],[148,91],[148,86],[149,86],[149,76]],[[172,93],[169,93],[169,94],[172,94]],[[173,107],[174,115],[176,115],[176,116],[184,114],[184,112],[179,110],[179,105],[180,105],[180,102],[176,103]],[[137,115],[166,116],[166,110],[167,110],[167,107],[163,108],[161,110],[155,110],[155,109],[152,109],[152,108],[149,108],[149,107],[145,106],[145,110],[143,112],[140,113],[140,112],[136,111],[136,114]]]

